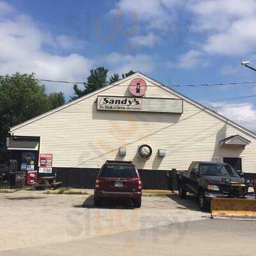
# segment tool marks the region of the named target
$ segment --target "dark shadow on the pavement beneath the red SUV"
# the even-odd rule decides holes
[[[99,208],[99,209],[124,209],[133,210],[134,206],[131,200],[102,200],[100,207],[93,205],[93,195],[88,196],[81,205],[73,205],[76,208]]]

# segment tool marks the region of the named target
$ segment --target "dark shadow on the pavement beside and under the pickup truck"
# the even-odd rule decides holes
[[[177,204],[177,209],[189,209],[191,211],[200,211],[195,195],[187,195],[186,199],[180,198],[179,195],[166,195]]]

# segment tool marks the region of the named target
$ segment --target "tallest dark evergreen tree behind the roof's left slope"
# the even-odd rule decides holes
[[[108,68],[98,67],[90,71],[90,76],[87,77],[87,83],[84,83],[84,89],[80,90],[77,84],[74,85],[75,95],[72,100],[78,99],[83,95],[94,92],[108,84],[107,81]]]

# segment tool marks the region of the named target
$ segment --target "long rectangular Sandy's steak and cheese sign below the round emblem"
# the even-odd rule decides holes
[[[98,96],[97,109],[110,111],[139,111],[182,113],[181,99]]]

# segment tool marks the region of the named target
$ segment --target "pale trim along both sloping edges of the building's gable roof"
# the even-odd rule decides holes
[[[131,76],[127,76],[124,77],[123,79],[120,79],[119,81],[109,84],[108,86],[104,86],[103,88],[100,88],[99,90],[96,90],[92,93],[88,93],[87,95],[84,95],[83,97],[76,99],[76,100],[72,100],[71,102],[68,102],[67,104],[60,106],[58,108],[52,109],[51,111],[48,111],[42,115],[36,116],[35,118],[32,118],[26,122],[23,122],[19,125],[15,125],[10,129],[10,132],[15,131],[16,129],[19,129],[20,127],[23,127],[24,125],[28,125],[31,124],[32,122],[35,122],[36,120],[39,120],[41,118],[44,118],[45,116],[51,115],[52,113],[55,113],[57,111],[60,111],[61,109],[67,108],[68,106],[71,106],[73,104],[76,104],[77,102],[80,102],[81,100],[87,99],[89,97],[92,97],[93,95],[100,93],[100,92],[104,92],[105,90],[108,90],[109,88],[112,88],[114,86],[118,86],[118,84],[123,83],[129,79],[131,79],[132,77],[137,77],[140,76],[144,79],[147,79],[148,81],[156,84],[157,86],[163,88],[164,90],[173,93],[174,95],[177,95],[178,97],[180,97],[183,100],[186,100],[187,102],[193,104],[194,106],[200,108],[200,109],[204,109],[204,111],[206,111],[207,113],[210,113],[213,116],[216,116],[216,118],[219,118],[220,120],[223,120],[224,122],[227,122],[228,124],[236,127],[237,129],[246,132],[247,134],[249,134],[250,136],[253,136],[254,138],[256,138],[256,133],[250,131],[249,129],[246,129],[245,127],[243,127],[242,125],[236,124],[236,122],[233,122],[232,120],[229,120],[228,118],[226,118],[225,116],[220,115],[219,113],[216,113],[215,111],[212,111],[211,109],[205,107],[204,105],[196,102],[195,100],[190,99],[189,97],[183,95],[182,93],[176,92],[175,90],[173,90],[172,88],[165,86],[162,83],[159,83],[158,81],[152,79],[151,77],[148,77],[147,75],[141,73],[141,72],[136,72],[134,74],[132,74]]]

